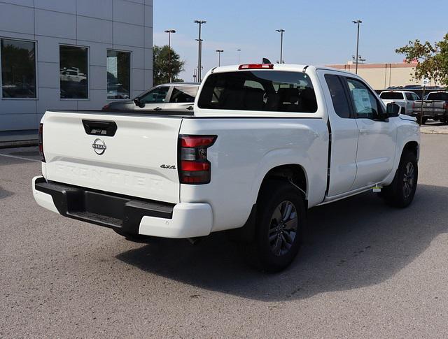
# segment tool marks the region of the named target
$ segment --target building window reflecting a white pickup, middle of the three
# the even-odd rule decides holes
[[[59,46],[61,99],[88,99],[87,48]]]

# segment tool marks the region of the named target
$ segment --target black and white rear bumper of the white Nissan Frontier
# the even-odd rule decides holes
[[[38,176],[32,181],[36,203],[65,217],[129,234],[195,238],[211,232],[213,214],[207,203],[160,203],[98,192]]]

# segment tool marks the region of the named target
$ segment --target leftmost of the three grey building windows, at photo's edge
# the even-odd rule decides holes
[[[36,98],[36,44],[0,39],[0,45],[2,98]]]

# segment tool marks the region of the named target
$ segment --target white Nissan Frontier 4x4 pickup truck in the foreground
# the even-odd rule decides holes
[[[33,194],[124,236],[234,230],[262,269],[279,271],[308,208],[370,189],[412,202],[419,127],[399,110],[332,68],[214,68],[192,112],[46,112]]]

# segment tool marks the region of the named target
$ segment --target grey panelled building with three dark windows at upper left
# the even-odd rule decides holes
[[[153,84],[153,0],[1,0],[0,134]]]

